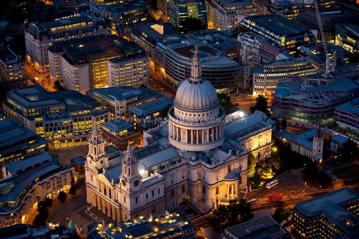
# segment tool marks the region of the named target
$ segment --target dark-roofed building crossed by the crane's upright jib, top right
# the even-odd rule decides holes
[[[356,21],[350,11],[343,11],[338,8],[321,8],[319,12],[325,41],[333,44],[335,43],[335,25],[342,23],[349,24]],[[318,36],[316,37],[322,41],[315,9],[302,11],[294,20],[309,29],[316,29],[318,31]]]

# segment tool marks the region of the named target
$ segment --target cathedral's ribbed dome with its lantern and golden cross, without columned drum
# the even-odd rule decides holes
[[[202,78],[197,46],[192,62],[191,77],[185,80],[178,88],[174,104],[176,107],[195,110],[213,108],[219,105],[213,85]]]

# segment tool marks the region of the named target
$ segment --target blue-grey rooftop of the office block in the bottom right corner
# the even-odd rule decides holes
[[[359,193],[350,188],[341,188],[332,193],[313,198],[294,206],[293,209],[306,217],[323,214],[340,228],[346,229],[346,219],[350,219],[354,225],[359,224],[359,218],[351,214],[342,205],[359,200]]]

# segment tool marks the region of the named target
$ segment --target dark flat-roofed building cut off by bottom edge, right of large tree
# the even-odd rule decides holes
[[[270,216],[259,217],[224,229],[221,239],[265,238],[291,239],[292,234]]]

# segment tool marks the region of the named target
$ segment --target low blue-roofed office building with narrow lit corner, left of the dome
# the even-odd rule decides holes
[[[86,92],[86,95],[94,98],[102,107],[111,114],[111,119],[125,118],[127,109],[164,97],[150,88],[134,88],[132,86],[120,86],[93,89]]]

